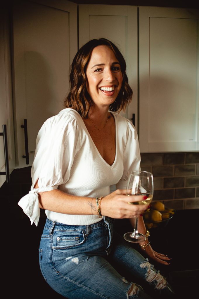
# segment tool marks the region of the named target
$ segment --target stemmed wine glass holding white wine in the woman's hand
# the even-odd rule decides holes
[[[130,173],[126,195],[142,195],[145,196],[144,200],[139,202],[128,202],[132,205],[149,205],[152,201],[154,193],[153,175],[147,171],[132,171]],[[132,243],[140,243],[146,240],[145,235],[138,233],[137,230],[138,217],[136,217],[135,227],[133,232],[124,234],[124,239]]]

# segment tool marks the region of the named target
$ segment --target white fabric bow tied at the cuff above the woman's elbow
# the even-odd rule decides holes
[[[27,195],[23,196],[18,205],[23,209],[24,213],[33,222],[38,225],[40,219],[39,192],[51,191],[57,189],[57,186],[34,188]]]

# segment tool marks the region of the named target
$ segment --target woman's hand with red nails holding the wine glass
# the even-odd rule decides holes
[[[144,196],[126,196],[126,190],[118,189],[101,201],[101,214],[111,218],[135,218],[147,210],[148,205],[131,205],[128,202],[142,201]]]

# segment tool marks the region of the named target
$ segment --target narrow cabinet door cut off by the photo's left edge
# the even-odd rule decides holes
[[[10,33],[8,10],[3,8],[0,16],[0,132],[3,126],[7,129],[7,146],[10,173],[15,168],[14,125],[13,125],[13,99],[12,74],[10,59]],[[0,136],[0,172],[5,172],[4,143]],[[0,176],[0,187],[6,176]]]

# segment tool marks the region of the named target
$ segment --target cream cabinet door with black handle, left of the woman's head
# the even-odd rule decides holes
[[[43,122],[63,109],[69,66],[77,52],[77,5],[16,1],[13,6],[13,82],[18,167],[26,167],[23,120],[27,119],[29,165]]]

